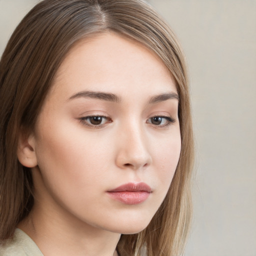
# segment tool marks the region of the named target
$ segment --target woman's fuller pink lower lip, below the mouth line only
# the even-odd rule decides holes
[[[116,191],[108,192],[108,194],[113,199],[125,204],[138,204],[145,201],[150,193],[146,191]]]

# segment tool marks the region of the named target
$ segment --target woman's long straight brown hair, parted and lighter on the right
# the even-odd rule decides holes
[[[179,94],[181,153],[168,193],[149,225],[121,235],[121,256],[180,255],[191,216],[193,137],[185,61],[168,25],[142,0],[43,0],[13,32],[0,60],[0,242],[33,206],[29,168],[17,159],[21,131],[31,131],[67,51],[78,40],[114,31],[149,48],[163,61]]]

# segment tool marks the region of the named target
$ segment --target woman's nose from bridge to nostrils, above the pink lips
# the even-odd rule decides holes
[[[117,136],[116,165],[122,169],[140,169],[151,164],[145,132],[139,127],[127,127]]]

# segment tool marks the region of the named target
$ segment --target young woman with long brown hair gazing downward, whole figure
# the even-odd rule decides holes
[[[186,70],[150,6],[39,2],[3,52],[0,98],[1,254],[182,254]]]

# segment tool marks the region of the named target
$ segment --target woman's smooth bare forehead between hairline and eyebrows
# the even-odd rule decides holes
[[[84,89],[176,92],[173,79],[158,56],[140,43],[110,32],[76,43],[57,70],[53,85],[69,93]]]

